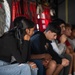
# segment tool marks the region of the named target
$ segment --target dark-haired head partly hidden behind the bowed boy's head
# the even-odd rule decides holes
[[[53,20],[53,22],[55,22],[57,27],[60,28],[60,33],[59,34],[63,34],[64,31],[65,31],[65,24],[66,24],[65,21],[62,20],[62,19],[57,18],[57,19]]]

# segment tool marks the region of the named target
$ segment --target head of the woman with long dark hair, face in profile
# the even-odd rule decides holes
[[[25,17],[17,17],[14,20],[14,27],[17,31],[16,34],[21,35],[22,38],[25,36],[25,34],[32,36],[34,26],[34,23]]]

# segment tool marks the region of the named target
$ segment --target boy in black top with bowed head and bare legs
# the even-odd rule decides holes
[[[31,37],[31,58],[42,60],[42,64],[46,68],[46,75],[58,75],[63,67],[69,65],[69,61],[62,59],[51,45],[52,40],[57,38],[58,30],[55,23],[51,22],[44,32],[35,32]],[[59,64],[58,67],[55,63]]]

